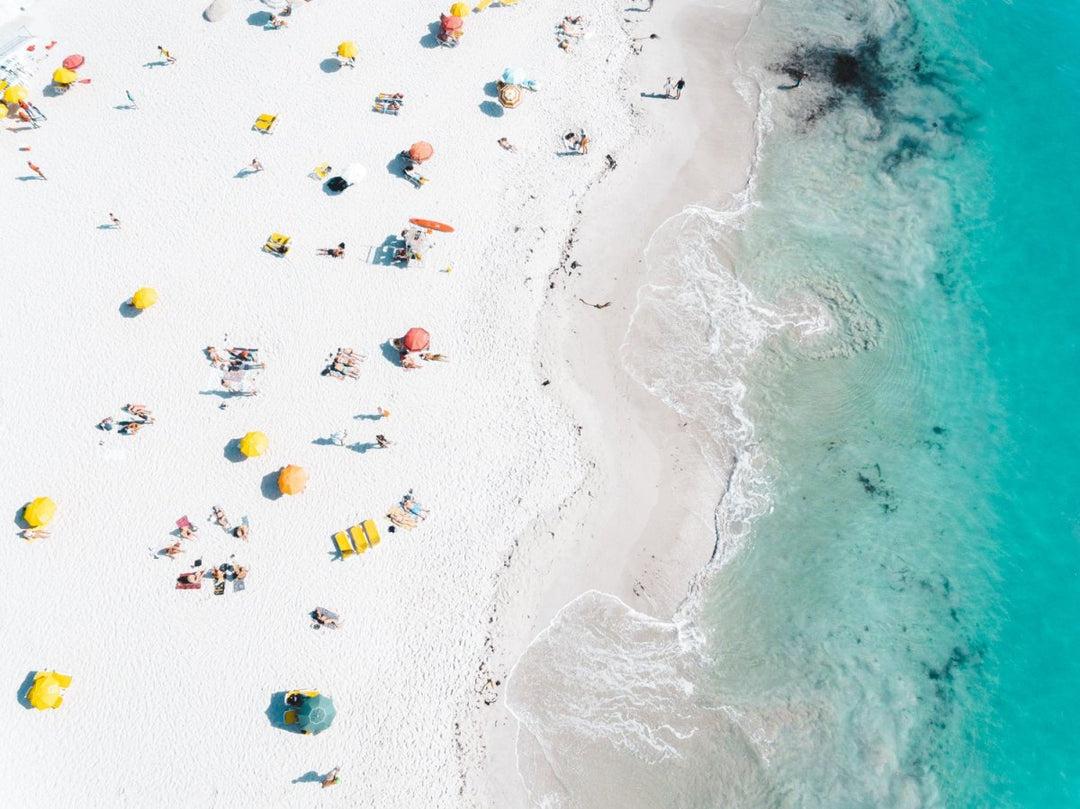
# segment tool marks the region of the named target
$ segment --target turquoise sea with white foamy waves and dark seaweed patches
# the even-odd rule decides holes
[[[1080,806],[1078,40],[765,1],[750,193],[653,237],[624,347],[737,459],[716,557],[674,622],[590,593],[523,656],[539,805]]]

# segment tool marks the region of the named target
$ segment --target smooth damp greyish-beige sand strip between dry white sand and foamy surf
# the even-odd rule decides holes
[[[488,670],[503,680],[558,611],[583,593],[602,591],[670,620],[713,555],[713,513],[726,480],[710,468],[679,415],[626,372],[621,354],[647,282],[644,254],[652,234],[689,204],[721,205],[746,188],[756,110],[733,82],[741,76],[735,46],[755,11],[696,5],[672,13],[661,6],[626,26],[631,36],[660,35],[659,42],[646,41],[642,55],[626,57],[627,100],[645,132],[586,192],[544,305],[543,316],[558,328],[542,336],[537,351],[553,358],[538,361],[537,374],[551,380],[548,390],[580,426],[588,472],[570,497],[536,521],[517,545],[525,558],[503,574],[503,589],[513,591],[507,597],[523,607],[509,618],[492,612],[501,653]],[[707,25],[702,15],[710,15]],[[723,31],[719,46],[716,29]],[[683,99],[638,95],[662,85],[666,73],[659,69],[677,59],[686,60]],[[619,223],[611,221],[611,210],[619,211]],[[483,736],[498,806],[529,805],[517,732],[517,719],[501,700],[495,703]]]

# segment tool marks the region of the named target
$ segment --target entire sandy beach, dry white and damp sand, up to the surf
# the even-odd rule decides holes
[[[649,235],[746,181],[733,49],[751,3],[522,0],[471,14],[454,49],[437,5],[301,1],[278,30],[255,0],[215,23],[206,0],[152,5],[0,3],[0,46],[33,37],[48,119],[0,122],[2,800],[526,806],[501,700],[517,656],[590,589],[670,617],[712,553],[723,476],[619,348]],[[583,18],[565,52],[564,15]],[[55,94],[69,54],[91,82]],[[507,67],[538,90],[503,110]],[[676,71],[681,100],[642,97]],[[373,110],[380,92],[404,94],[399,114]],[[571,129],[588,154],[566,153]],[[417,140],[434,147],[419,188],[396,159]],[[309,176],[324,163],[366,177],[330,194]],[[455,231],[386,262],[410,217]],[[275,232],[283,257],[261,251]],[[345,258],[316,255],[339,242]],[[132,316],[144,286],[159,300]],[[387,341],[414,326],[448,362],[400,366]],[[207,346],[257,348],[258,394],[225,391]],[[339,347],[366,355],[356,379],[321,375]],[[126,403],[154,422],[95,429]],[[243,459],[255,430],[269,448]],[[308,471],[301,494],[279,494],[286,464]],[[391,531],[409,490],[430,513]],[[41,496],[51,536],[27,542]],[[199,531],[168,558],[183,515]],[[367,518],[381,542],[339,558],[333,535]],[[247,567],[246,588],[176,590],[195,559]],[[313,629],[316,606],[342,626]],[[37,671],[72,677],[55,711],[23,704]],[[292,689],[330,696],[333,727],[283,727]]]

